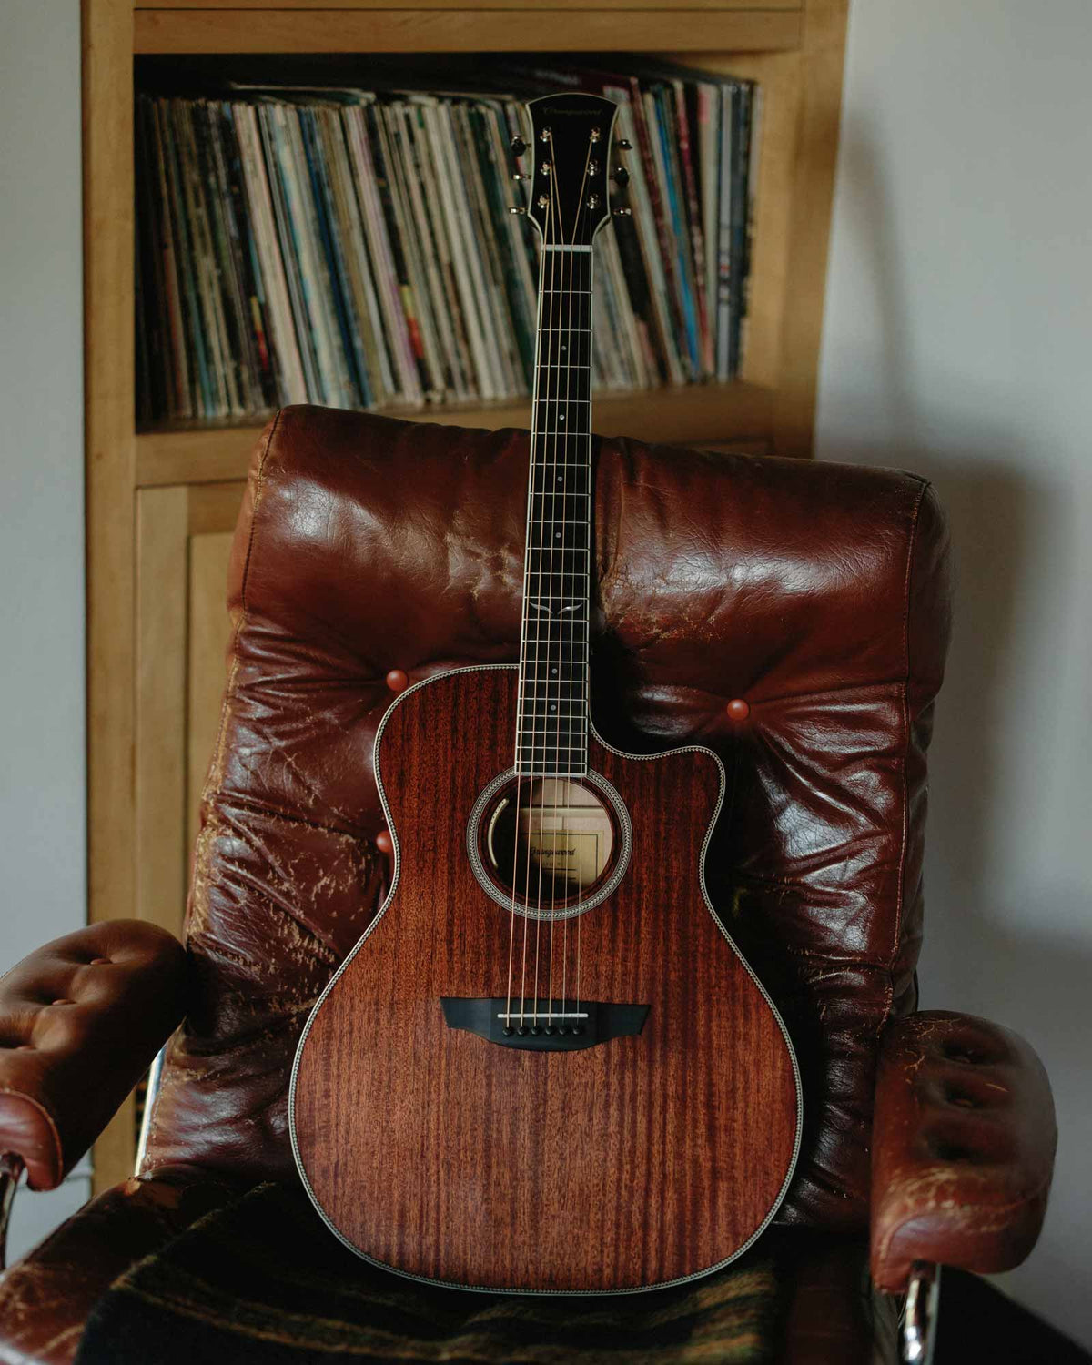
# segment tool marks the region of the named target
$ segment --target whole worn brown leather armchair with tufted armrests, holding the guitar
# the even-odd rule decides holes
[[[288,408],[263,435],[186,951],[147,924],[96,924],[0,986],[0,1152],[34,1189],[83,1155],[184,1014],[138,1177],[7,1272],[4,1361],[70,1361],[134,1260],[240,1185],[295,1179],[293,1047],[389,872],[371,775],[385,680],[516,657],[526,478],[520,431]],[[920,1298],[923,1263],[1028,1254],[1055,1141],[1026,1043],[915,1013],[943,512],[909,474],[616,440],[597,452],[595,536],[598,728],[726,760],[710,891],[800,1057],[784,1357],[893,1358],[916,1263]]]

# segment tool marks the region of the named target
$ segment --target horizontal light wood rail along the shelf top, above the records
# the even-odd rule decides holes
[[[800,10],[135,10],[132,51],[289,52],[790,52]]]

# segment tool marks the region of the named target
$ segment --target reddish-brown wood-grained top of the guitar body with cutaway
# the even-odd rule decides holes
[[[340,1233],[405,1274],[551,1291],[700,1274],[763,1224],[797,1125],[777,1017],[702,897],[719,768],[704,752],[640,760],[592,740],[633,852],[618,890],[580,916],[581,998],[650,1005],[648,1020],[581,1052],[498,1047],[448,1029],[440,998],[506,992],[511,916],[474,879],[465,830],[511,764],[515,704],[515,670],[472,670],[388,715],[399,880],[311,1017],[298,1152]],[[524,923],[532,960],[521,917],[516,957]],[[572,951],[575,921],[568,932]]]

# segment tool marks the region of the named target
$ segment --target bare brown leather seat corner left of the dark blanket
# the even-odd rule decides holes
[[[71,1365],[111,1282],[233,1193],[182,1173],[124,1181],[0,1275],[0,1365]],[[27,1198],[33,1196],[25,1196]]]

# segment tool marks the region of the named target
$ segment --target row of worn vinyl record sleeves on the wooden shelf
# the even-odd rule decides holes
[[[138,419],[527,394],[538,242],[508,212],[526,203],[509,145],[527,131],[521,101],[566,87],[614,100],[632,143],[616,195],[632,217],[597,240],[597,386],[733,378],[758,87],[666,68],[521,79],[519,94],[512,79],[505,93],[142,93]]]

